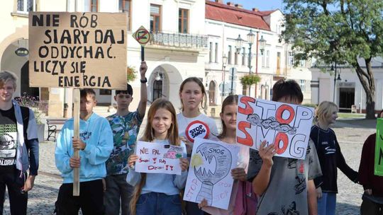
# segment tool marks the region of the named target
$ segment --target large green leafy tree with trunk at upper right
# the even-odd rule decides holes
[[[287,14],[282,37],[294,44],[295,62],[315,58],[319,64],[353,66],[367,95],[366,117],[374,118],[371,60],[383,50],[383,1],[284,0],[284,4]]]

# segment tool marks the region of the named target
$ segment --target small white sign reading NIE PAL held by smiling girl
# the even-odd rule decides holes
[[[179,158],[182,158],[182,146],[137,141],[135,153],[139,156],[135,162],[135,171],[138,173],[181,175]]]

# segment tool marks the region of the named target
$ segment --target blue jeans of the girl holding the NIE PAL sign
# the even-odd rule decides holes
[[[140,194],[135,205],[137,215],[181,215],[181,199],[179,194],[167,195],[160,192]]]

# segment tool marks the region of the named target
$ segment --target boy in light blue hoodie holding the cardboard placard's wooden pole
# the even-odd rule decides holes
[[[73,118],[67,120],[57,138],[55,161],[63,182],[56,202],[57,214],[104,214],[105,162],[113,149],[109,122],[93,112],[96,93],[80,91],[79,139],[73,137]],[[74,149],[79,157],[74,158]],[[73,168],[79,168],[80,195],[73,196]]]

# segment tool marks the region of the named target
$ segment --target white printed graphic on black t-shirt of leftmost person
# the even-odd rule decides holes
[[[0,124],[0,165],[15,165],[16,149],[16,124]]]

